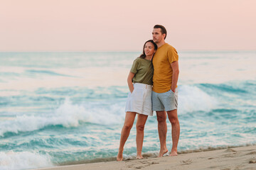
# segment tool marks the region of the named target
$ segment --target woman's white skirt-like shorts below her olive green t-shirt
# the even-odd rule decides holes
[[[129,92],[125,112],[136,112],[143,115],[153,115],[151,106],[152,86],[134,84],[134,91]]]

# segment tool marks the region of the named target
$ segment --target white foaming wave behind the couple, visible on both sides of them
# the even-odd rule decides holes
[[[65,128],[78,127],[81,123],[100,125],[120,124],[124,120],[124,100],[116,99],[115,103],[87,103],[76,105],[65,98],[52,114],[17,115],[0,124],[0,135],[6,132],[31,132],[50,125],[63,125]],[[218,105],[217,99],[196,86],[178,87],[178,113],[186,114],[195,111],[210,111]]]

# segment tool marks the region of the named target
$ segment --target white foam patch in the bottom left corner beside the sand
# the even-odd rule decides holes
[[[48,154],[33,152],[0,152],[0,169],[38,169],[53,166]]]

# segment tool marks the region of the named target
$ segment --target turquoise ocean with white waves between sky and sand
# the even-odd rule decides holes
[[[0,169],[114,160],[127,76],[140,54],[0,52]],[[256,145],[256,51],[178,55],[178,152]],[[135,137],[134,126],[125,159],[136,157]],[[146,121],[142,152],[155,157],[159,147],[154,113]]]

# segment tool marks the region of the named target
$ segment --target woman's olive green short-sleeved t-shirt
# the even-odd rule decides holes
[[[150,60],[138,57],[132,64],[131,72],[134,73],[133,83],[153,85],[153,64]]]

